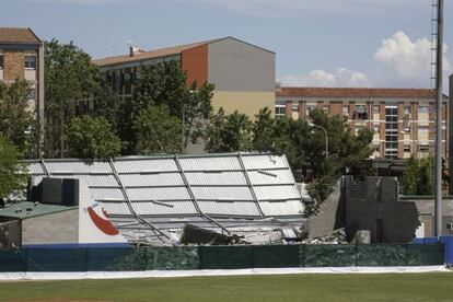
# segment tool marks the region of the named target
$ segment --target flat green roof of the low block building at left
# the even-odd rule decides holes
[[[51,214],[62,211],[77,209],[77,207],[66,207],[59,205],[45,205],[32,201],[22,201],[0,208],[0,217],[27,219],[32,217]]]

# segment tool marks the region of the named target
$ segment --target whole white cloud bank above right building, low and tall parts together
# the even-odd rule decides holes
[[[375,72],[365,74],[340,68],[334,72],[314,69],[309,73],[280,77],[288,86],[407,86],[429,88],[431,85],[432,44],[426,38],[411,40],[403,32],[383,39],[381,46],[372,55],[376,62]],[[444,88],[452,66],[448,56],[448,45],[443,46]]]

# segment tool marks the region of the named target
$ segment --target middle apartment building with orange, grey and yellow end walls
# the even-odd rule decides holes
[[[188,84],[216,85],[214,111],[239,111],[254,118],[275,103],[275,53],[234,37],[179,45],[150,51],[133,46],[129,54],[95,59],[113,89],[124,97],[132,94],[143,66],[176,60],[187,73]]]

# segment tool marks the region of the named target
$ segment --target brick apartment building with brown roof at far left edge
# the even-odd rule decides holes
[[[44,126],[44,44],[31,28],[0,27],[0,81],[30,82],[28,109]]]

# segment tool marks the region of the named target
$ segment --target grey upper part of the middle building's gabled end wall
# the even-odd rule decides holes
[[[229,37],[209,44],[208,56],[208,80],[216,90],[274,93],[274,53]]]

